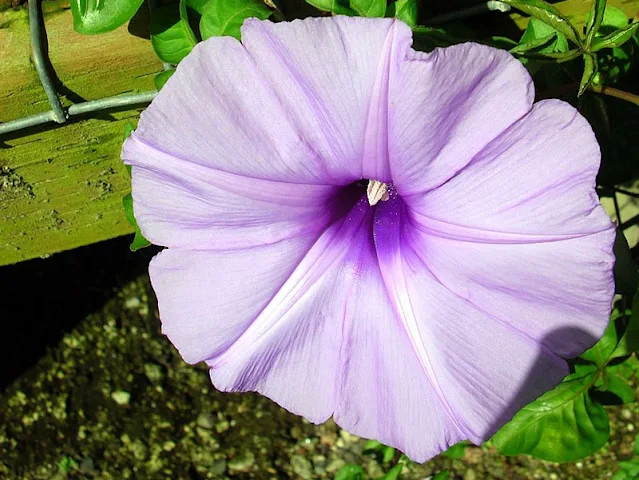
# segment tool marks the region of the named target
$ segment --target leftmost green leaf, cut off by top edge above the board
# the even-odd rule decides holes
[[[71,0],[73,29],[93,35],[110,32],[128,22],[143,0]]]

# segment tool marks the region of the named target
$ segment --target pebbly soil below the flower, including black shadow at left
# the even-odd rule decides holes
[[[255,394],[224,394],[160,333],[149,252],[116,240],[0,269],[0,479],[332,479],[390,468],[332,421],[314,426]],[[552,464],[469,446],[401,478],[605,479],[632,455],[637,404],[611,408],[611,442]]]

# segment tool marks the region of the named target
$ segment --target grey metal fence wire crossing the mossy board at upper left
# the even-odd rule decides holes
[[[29,31],[31,37],[31,53],[33,65],[35,66],[42,88],[47,94],[51,110],[28,117],[18,118],[9,122],[0,123],[0,135],[15,132],[24,128],[35,127],[45,123],[56,122],[65,123],[73,115],[83,113],[108,110],[111,108],[124,107],[129,105],[146,104],[157,95],[157,90],[147,92],[115,95],[113,97],[91,100],[88,102],[75,103],[66,110],[60,103],[58,92],[49,73],[48,59],[45,55],[45,45],[43,42],[44,21],[41,17],[41,4],[39,0],[29,0]]]

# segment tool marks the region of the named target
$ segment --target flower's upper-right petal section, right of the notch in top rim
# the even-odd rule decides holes
[[[390,92],[389,149],[399,193],[445,183],[525,115],[534,96],[530,75],[504,50],[464,43],[430,54],[409,51]]]

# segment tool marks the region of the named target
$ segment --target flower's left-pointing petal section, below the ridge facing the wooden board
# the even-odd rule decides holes
[[[138,224],[156,245],[237,250],[317,236],[334,217],[332,186],[227,173],[164,153],[137,133],[122,156],[133,165]]]

